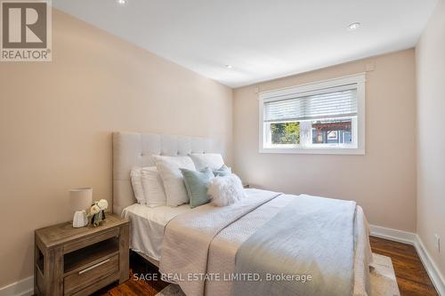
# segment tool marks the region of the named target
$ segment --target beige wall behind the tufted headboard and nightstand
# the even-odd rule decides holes
[[[231,160],[230,88],[62,12],[53,62],[0,63],[0,96],[0,287],[32,275],[69,188],[111,200],[112,131],[211,135]]]

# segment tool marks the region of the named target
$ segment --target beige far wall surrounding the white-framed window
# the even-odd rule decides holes
[[[258,100],[266,91],[365,71],[366,156],[258,153]],[[263,188],[356,200],[371,224],[416,229],[416,88],[412,49],[236,89],[235,171]]]

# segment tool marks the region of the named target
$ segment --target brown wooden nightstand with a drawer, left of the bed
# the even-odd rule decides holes
[[[89,295],[129,277],[128,220],[107,213],[101,226],[65,222],[35,232],[34,293]]]

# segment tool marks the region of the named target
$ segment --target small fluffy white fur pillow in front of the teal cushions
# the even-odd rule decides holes
[[[211,204],[216,206],[235,204],[246,196],[241,180],[233,173],[229,176],[214,178],[207,193],[212,196]]]

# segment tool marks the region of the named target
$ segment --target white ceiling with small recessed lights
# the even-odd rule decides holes
[[[53,0],[63,12],[231,87],[413,47],[436,3]],[[362,27],[348,31],[356,21]]]

